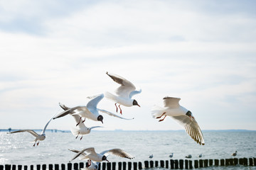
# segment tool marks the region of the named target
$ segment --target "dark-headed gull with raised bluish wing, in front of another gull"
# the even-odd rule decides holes
[[[104,98],[104,94],[100,94],[97,96],[94,96],[92,100],[90,100],[86,106],[75,106],[74,108],[69,108],[66,111],[63,111],[62,113],[56,115],[53,119],[61,118],[65,115],[72,114],[72,115],[80,115],[80,119],[82,118],[88,118],[95,121],[100,121],[103,123],[103,116],[100,115],[99,111],[102,113],[107,113],[108,115],[112,115],[116,118],[122,118],[119,115],[115,115],[114,113],[110,113],[109,111],[102,110],[100,108],[97,108],[97,104]],[[122,118],[126,120],[131,120],[127,118]],[[82,120],[82,123],[84,123],[85,120]],[[80,121],[78,121],[77,126],[80,124]]]

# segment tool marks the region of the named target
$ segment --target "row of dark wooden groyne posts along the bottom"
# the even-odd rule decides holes
[[[198,169],[208,166],[256,166],[256,158],[233,158],[233,159],[170,159],[160,161],[144,161],[142,162],[101,162],[98,170],[138,170],[149,168],[166,168],[166,169]],[[85,163],[68,163],[68,164],[37,164],[37,165],[0,165],[0,170],[77,170],[85,168]]]

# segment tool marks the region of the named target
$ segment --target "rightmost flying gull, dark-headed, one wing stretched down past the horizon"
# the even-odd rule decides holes
[[[171,116],[171,118],[174,118],[174,120],[183,125],[186,132],[191,136],[193,140],[195,140],[200,145],[205,145],[203,140],[203,133],[201,132],[198,123],[193,117],[193,114],[191,111],[188,111],[186,108],[183,108],[179,105],[178,101],[180,101],[181,98],[166,96],[163,99],[164,108],[159,106],[154,106],[152,108],[151,113],[153,118],[159,119],[164,116],[164,118],[159,120],[159,122],[161,122],[166,118],[167,115]]]

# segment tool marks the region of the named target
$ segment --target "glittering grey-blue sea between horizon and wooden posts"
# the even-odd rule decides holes
[[[229,159],[238,152],[237,158],[256,157],[256,131],[251,130],[204,130],[206,145],[198,145],[184,130],[126,131],[92,130],[90,134],[75,139],[71,132],[46,131],[46,140],[33,147],[34,137],[28,132],[7,134],[0,132],[0,164],[36,165],[68,164],[75,156],[69,149],[82,150],[95,147],[96,152],[119,148],[132,154],[134,159],[110,155],[110,162],[142,162],[153,160]],[[173,154],[170,158],[169,155]],[[153,154],[153,158],[149,155]],[[202,154],[201,158],[198,155]],[[86,162],[75,159],[73,163]],[[154,168],[164,169],[164,168]],[[256,166],[210,166],[201,169],[256,169]]]

